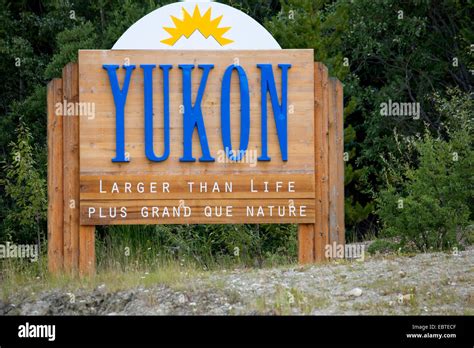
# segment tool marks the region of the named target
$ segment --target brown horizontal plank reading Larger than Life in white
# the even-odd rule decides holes
[[[309,174],[81,175],[81,200],[313,198]]]

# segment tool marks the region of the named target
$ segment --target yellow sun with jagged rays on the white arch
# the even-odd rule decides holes
[[[171,37],[161,40],[162,43],[173,46],[182,36],[189,38],[196,30],[198,30],[206,39],[209,38],[209,36],[212,36],[221,46],[225,46],[234,42],[233,40],[223,37],[223,35],[231,27],[219,28],[218,26],[222,20],[222,15],[215,19],[211,19],[210,7],[206,13],[204,13],[204,15],[201,15],[197,5],[194,8],[192,16],[186,11],[184,7],[182,10],[184,14],[184,18],[182,20],[176,18],[175,16],[171,16],[171,19],[175,25],[174,28],[163,27],[163,29],[166,30],[168,34],[171,35]]]

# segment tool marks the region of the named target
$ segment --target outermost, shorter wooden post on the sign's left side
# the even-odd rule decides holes
[[[48,269],[63,268],[63,118],[55,105],[62,102],[62,80],[48,84]]]

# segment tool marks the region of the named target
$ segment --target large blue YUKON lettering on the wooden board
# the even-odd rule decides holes
[[[108,74],[109,83],[115,104],[115,157],[112,162],[129,162],[125,153],[125,104],[130,87],[130,79],[135,69],[135,65],[123,65],[125,77],[122,87],[119,86],[117,69],[118,65],[104,64],[102,66]],[[195,68],[192,64],[178,65],[182,72],[182,90],[183,90],[183,155],[179,158],[180,162],[195,162],[193,157],[193,134],[197,131],[199,142],[201,144],[202,156],[200,162],[214,162],[211,156],[209,143],[206,135],[204,115],[202,113],[201,102],[206,90],[207,80],[210,71],[214,68],[213,64],[200,64],[198,68],[202,70],[202,77],[196,94],[196,99],[192,101],[192,71]],[[163,141],[164,150],[161,156],[156,155],[153,146],[153,70],[155,64],[141,64],[143,71],[143,92],[144,92],[144,129],[145,129],[145,155],[152,162],[163,162],[170,155],[170,70],[171,65],[159,65],[163,75]],[[271,64],[257,64],[260,69],[261,84],[261,155],[259,161],[270,161],[268,155],[268,110],[267,96],[270,96],[273,118],[276,125],[278,142],[280,145],[281,159],[288,160],[288,70],[291,64],[278,64],[281,71],[281,91],[279,101],[278,92],[273,75]],[[240,91],[240,144],[239,151],[232,150],[231,124],[230,124],[230,93],[231,79],[234,70],[239,78]],[[230,65],[224,72],[221,84],[221,136],[222,144],[227,157],[232,161],[240,161],[245,155],[249,145],[250,136],[250,90],[247,74],[245,70],[238,65]]]

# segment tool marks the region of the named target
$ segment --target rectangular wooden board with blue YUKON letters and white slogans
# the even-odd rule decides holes
[[[313,68],[312,50],[81,50],[81,224],[314,222]]]

